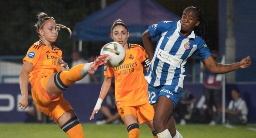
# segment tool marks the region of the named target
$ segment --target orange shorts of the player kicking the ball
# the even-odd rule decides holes
[[[51,75],[38,78],[32,84],[31,93],[37,108],[56,122],[64,112],[73,110],[73,108],[63,98],[63,95],[54,99],[49,98],[48,93],[46,92],[46,85],[50,76]]]

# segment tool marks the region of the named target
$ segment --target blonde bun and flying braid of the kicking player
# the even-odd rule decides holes
[[[49,20],[49,19],[52,19],[54,22],[55,22],[55,19],[53,17],[48,17],[48,15],[44,12],[40,12],[38,15],[37,15],[37,18],[38,18],[38,21],[37,23],[34,25],[34,27],[36,27],[36,32],[38,32],[41,28],[43,28],[43,25],[44,23]],[[72,34],[72,31],[64,26],[64,25],[61,25],[61,24],[56,24],[57,26],[57,31],[60,30],[60,28],[65,28],[68,30],[69,34],[70,34],[70,37],[71,37],[71,34]]]

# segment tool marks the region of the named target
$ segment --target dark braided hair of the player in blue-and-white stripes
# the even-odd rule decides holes
[[[187,7],[186,9],[193,9],[193,10],[197,11],[197,17],[198,17],[198,20],[200,21],[200,24],[198,26],[194,27],[193,30],[197,36],[201,37],[203,40],[206,41],[207,26],[206,26],[206,22],[202,18],[202,12],[200,11],[199,8],[196,8],[193,6]]]

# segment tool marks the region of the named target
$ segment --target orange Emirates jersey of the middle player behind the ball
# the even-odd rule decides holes
[[[149,59],[143,47],[129,44],[122,65],[110,68],[104,65],[104,75],[115,76],[116,104],[136,106],[148,101],[148,86],[143,67],[149,67]]]

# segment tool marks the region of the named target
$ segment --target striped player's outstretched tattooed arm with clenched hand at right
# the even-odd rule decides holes
[[[223,74],[236,69],[250,68],[251,66],[251,58],[249,56],[242,59],[240,62],[233,64],[219,64],[213,59],[212,56],[208,57],[202,62],[214,74]]]

